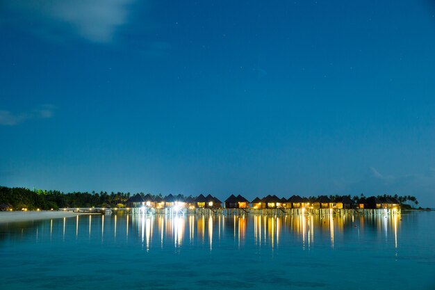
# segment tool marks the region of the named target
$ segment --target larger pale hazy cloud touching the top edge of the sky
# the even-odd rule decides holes
[[[5,0],[6,23],[21,26],[47,38],[78,35],[91,42],[111,42],[116,30],[126,24],[134,0]],[[6,11],[6,13],[5,13]],[[1,15],[1,14],[0,14]],[[18,17],[17,17],[18,16]]]

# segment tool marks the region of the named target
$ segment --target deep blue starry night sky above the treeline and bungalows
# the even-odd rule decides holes
[[[0,4],[0,184],[435,206],[432,1]]]

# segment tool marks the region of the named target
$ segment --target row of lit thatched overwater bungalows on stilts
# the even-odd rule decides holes
[[[208,194],[204,196],[203,194],[197,197],[189,196],[185,198],[183,195],[166,195],[164,198],[161,196],[155,196],[147,194],[142,196],[141,194],[133,195],[126,202],[126,207],[128,208],[142,208],[142,209],[152,209],[158,210],[155,212],[166,213],[166,209],[177,212],[195,213],[195,209],[203,209],[202,213],[206,210],[211,210],[212,212],[220,212],[225,209],[231,209],[231,213],[234,210],[243,210],[245,213],[249,213],[248,209],[251,211],[258,211],[260,214],[291,214],[291,213],[325,213],[325,209],[331,212],[342,213],[347,211],[360,211],[361,210],[376,210],[382,209],[383,212],[387,210],[388,212],[400,211],[400,203],[395,199],[391,198],[377,198],[371,196],[370,198],[361,198],[357,202],[354,202],[350,196],[336,196],[334,200],[327,197],[326,195],[320,195],[318,198],[313,198],[309,200],[308,198],[302,198],[299,195],[292,195],[290,198],[286,199],[278,198],[277,195],[267,195],[265,198],[254,198],[252,202],[249,202],[242,195],[231,194],[223,202],[215,198],[213,195]],[[162,210],[162,211],[160,211]],[[293,211],[295,210],[295,211]],[[327,211],[327,212],[329,212]],[[154,212],[154,211],[152,211]],[[172,211],[169,211],[172,212]],[[242,212],[242,211],[238,211]],[[373,211],[370,211],[373,212]]]

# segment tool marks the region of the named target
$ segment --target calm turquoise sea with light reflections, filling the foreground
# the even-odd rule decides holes
[[[0,225],[0,287],[435,289],[434,223],[435,212],[11,223]]]

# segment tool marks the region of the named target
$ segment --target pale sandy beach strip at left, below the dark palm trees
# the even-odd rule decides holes
[[[89,215],[72,211],[0,211],[0,224],[25,222],[31,220],[47,220],[51,218],[74,218]]]

